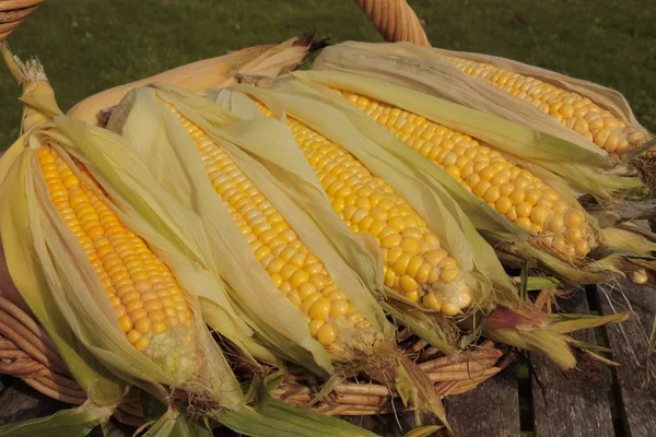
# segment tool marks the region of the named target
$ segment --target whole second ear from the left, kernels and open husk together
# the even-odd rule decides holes
[[[242,132],[258,132],[261,141],[256,143],[253,135],[219,131],[174,95],[156,90],[133,93],[126,101],[130,110],[119,113],[127,117],[108,126],[128,138],[136,126],[145,138],[148,127],[165,127],[166,140],[141,142],[139,153],[148,155],[154,147],[164,149],[163,155],[167,149],[174,152],[175,160],[153,161],[159,167],[154,172],[172,192],[192,188],[192,194],[179,196],[191,199],[204,218],[215,268],[258,334],[283,358],[320,376],[333,374],[333,363],[340,368],[362,366],[374,378],[408,388],[413,394],[405,401],[444,420],[432,383],[391,342],[391,326],[363,279],[244,150],[268,149],[286,130],[273,120],[244,122]],[[181,181],[180,173],[198,177]],[[326,204],[314,202],[311,214]],[[364,264],[371,267],[368,261]]]

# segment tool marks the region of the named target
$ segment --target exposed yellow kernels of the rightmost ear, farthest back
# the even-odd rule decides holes
[[[529,102],[567,128],[619,158],[646,141],[643,132],[576,93],[560,90],[538,79],[502,70],[489,63],[456,57],[446,59],[457,69],[493,83],[502,91]]]

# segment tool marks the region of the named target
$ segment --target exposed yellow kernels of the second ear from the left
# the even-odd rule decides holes
[[[194,139],[216,193],[276,287],[307,317],[313,338],[326,347],[338,339],[342,319],[356,328],[371,322],[351,306],[324,263],[254,186],[230,155],[172,105],[168,108]]]

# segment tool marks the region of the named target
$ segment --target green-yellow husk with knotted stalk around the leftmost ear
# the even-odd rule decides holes
[[[30,71],[9,56],[7,47],[3,50],[5,59],[12,59],[26,73]],[[49,86],[45,74],[26,85],[28,91]],[[279,423],[291,424],[294,435],[314,435],[305,430],[317,420],[314,413],[306,417],[285,411],[265,415],[246,404],[239,382],[201,318],[195,293],[224,305],[221,309],[226,320],[222,326],[227,328],[220,333],[237,346],[244,347],[241,341],[247,340],[251,331],[236,316],[223,284],[204,268],[210,251],[199,218],[165,194],[120,137],[62,115],[43,122],[47,117],[39,116],[56,107],[54,102],[42,101],[43,95],[52,93],[24,96],[27,105],[24,120],[39,121],[24,122],[26,133],[0,162],[0,199],[5,205],[0,233],[19,292],[52,334],[71,373],[87,389],[90,402],[46,420],[3,428],[1,433],[34,435],[47,427],[66,435],[84,435],[109,417],[129,383],[168,403],[169,411],[152,426],[149,435],[167,436],[172,429],[184,426],[180,422],[186,421],[184,411],[173,406],[180,398],[196,412],[200,409],[216,415],[215,418],[230,414],[231,425],[249,435],[289,435],[277,426]],[[30,114],[33,108],[35,113]],[[96,194],[169,267],[194,315],[189,328],[194,333],[191,340],[176,336],[172,331],[175,347],[166,349],[163,354],[153,351],[151,356],[128,342],[82,246],[50,201],[36,160],[43,144],[54,147],[80,179],[87,180],[73,160],[81,162],[104,190],[94,188]],[[330,425],[335,420],[319,421],[323,434],[338,435]],[[347,435],[367,434],[338,424],[347,427]],[[281,430],[263,432],[266,425]]]

